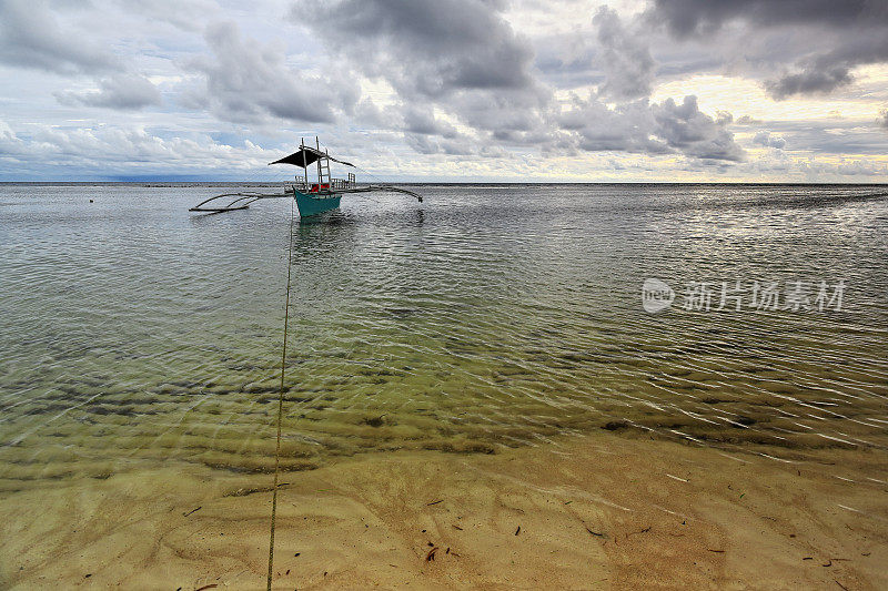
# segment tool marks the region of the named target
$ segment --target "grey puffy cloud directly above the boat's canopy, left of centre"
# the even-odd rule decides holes
[[[270,118],[332,122],[357,101],[359,89],[352,81],[290,69],[283,48],[242,39],[234,23],[210,26],[204,37],[212,57],[188,62],[203,79],[184,99],[190,108],[208,109],[235,123],[263,123]]]

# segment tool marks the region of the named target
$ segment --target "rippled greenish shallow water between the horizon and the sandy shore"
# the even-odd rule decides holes
[[[222,190],[0,185],[0,491],[273,467],[291,206],[186,211]],[[293,226],[284,468],[603,427],[885,452],[888,188],[421,191]],[[643,308],[649,277],[669,309]],[[814,309],[714,309],[736,281],[801,281]],[[840,309],[816,309],[821,281]],[[682,307],[689,282],[712,309]]]

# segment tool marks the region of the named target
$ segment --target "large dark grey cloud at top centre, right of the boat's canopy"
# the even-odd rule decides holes
[[[432,131],[407,106],[423,104],[476,130],[482,140],[539,130],[551,100],[551,91],[532,73],[528,40],[513,31],[504,8],[495,0],[341,0],[320,7],[296,2],[291,16],[312,28],[349,68],[395,90],[406,133]],[[435,131],[440,140],[453,135]],[[437,150],[430,140],[410,143]]]

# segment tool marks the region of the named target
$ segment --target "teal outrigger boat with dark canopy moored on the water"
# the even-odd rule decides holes
[[[300,141],[300,149],[297,152],[275,160],[272,164],[292,164],[301,166],[303,175],[296,175],[295,182],[285,185],[283,193],[258,193],[252,191],[242,191],[238,193],[223,193],[215,195],[206,201],[203,201],[191,207],[190,212],[209,212],[222,213],[233,212],[238,210],[246,210],[251,203],[259,200],[268,198],[285,198],[291,197],[296,200],[299,207],[299,215],[301,217],[310,217],[317,215],[330,210],[335,210],[340,206],[342,195],[347,193],[372,193],[372,192],[393,192],[404,193],[416,197],[422,203],[423,197],[418,193],[391,185],[363,185],[359,186],[355,181],[354,173],[349,173],[346,179],[333,179],[330,174],[330,163],[336,162],[345,166],[356,169],[354,164],[343,160],[334,159],[331,156],[326,149],[321,150],[321,142],[317,137],[314,139],[316,147],[305,145],[305,140]],[[309,166],[317,164],[317,182],[309,182]],[[216,201],[221,200],[221,201]],[[231,200],[228,204],[222,205],[225,201]]]

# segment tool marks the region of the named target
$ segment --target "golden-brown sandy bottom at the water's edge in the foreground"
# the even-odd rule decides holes
[[[273,587],[888,589],[886,473],[881,451],[608,432],[369,454],[283,475]],[[264,589],[271,478],[176,463],[13,492],[0,588]]]

